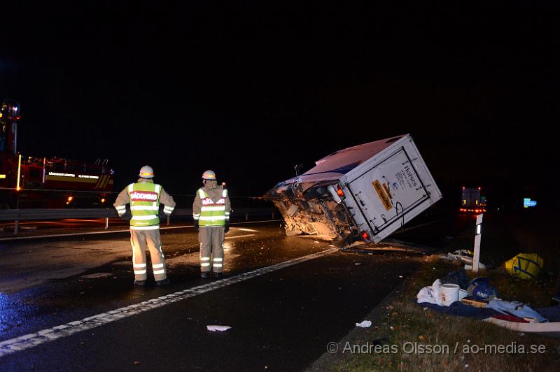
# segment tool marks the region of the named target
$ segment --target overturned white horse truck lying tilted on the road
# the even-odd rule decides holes
[[[333,152],[264,196],[289,236],[321,235],[338,245],[378,243],[441,198],[409,134]]]

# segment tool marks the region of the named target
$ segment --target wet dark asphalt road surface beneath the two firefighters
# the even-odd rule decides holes
[[[288,237],[279,222],[238,224],[225,279],[202,280],[194,229],[162,242],[168,287],[132,285],[127,233],[1,243],[0,369],[302,370],[420,262]]]

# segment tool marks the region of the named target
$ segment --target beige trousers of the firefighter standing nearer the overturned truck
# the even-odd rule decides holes
[[[223,272],[223,226],[200,227],[198,241],[200,241],[200,271],[214,273]]]

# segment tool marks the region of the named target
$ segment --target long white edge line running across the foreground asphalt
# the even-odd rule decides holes
[[[120,320],[125,317],[130,317],[132,315],[144,313],[145,311],[152,310],[154,308],[160,308],[162,306],[169,305],[169,303],[174,303],[184,299],[189,299],[190,297],[194,297],[206,292],[211,292],[214,291],[215,289],[227,287],[228,285],[242,282],[247,279],[256,278],[266,273],[271,273],[272,271],[284,269],[288,266],[293,266],[295,264],[300,264],[301,262],[306,262],[311,259],[316,259],[318,257],[330,255],[331,253],[337,251],[338,248],[330,248],[328,250],[316,252],[311,255],[280,262],[279,264],[274,264],[272,266],[267,266],[261,269],[248,271],[247,273],[241,273],[236,276],[232,276],[230,278],[216,280],[215,282],[209,282],[208,284],[199,285],[193,288],[183,289],[182,291],[175,292],[172,294],[167,294],[166,296],[161,296],[158,297],[157,299],[151,299],[141,303],[135,303],[134,305],[126,306],[124,308],[118,308],[116,310],[111,310],[107,313],[101,313],[101,314],[93,315],[91,317],[86,317],[83,320],[76,320],[74,322],[61,324],[59,326],[52,327],[49,329],[43,329],[42,331],[38,331],[32,334],[26,334],[25,336],[20,336],[18,338],[12,338],[10,340],[3,341],[0,343],[0,358],[5,355],[13,354],[15,352],[22,351],[22,350],[27,350],[29,348],[33,348],[34,346],[56,340],[57,338],[63,338],[66,336],[70,336],[71,334],[76,334],[81,331],[86,331],[87,329],[99,327],[101,325],[115,322],[116,320]]]

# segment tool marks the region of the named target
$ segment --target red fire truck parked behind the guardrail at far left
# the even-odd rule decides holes
[[[113,189],[107,159],[93,163],[18,152],[20,105],[0,106],[0,208],[104,207]]]

